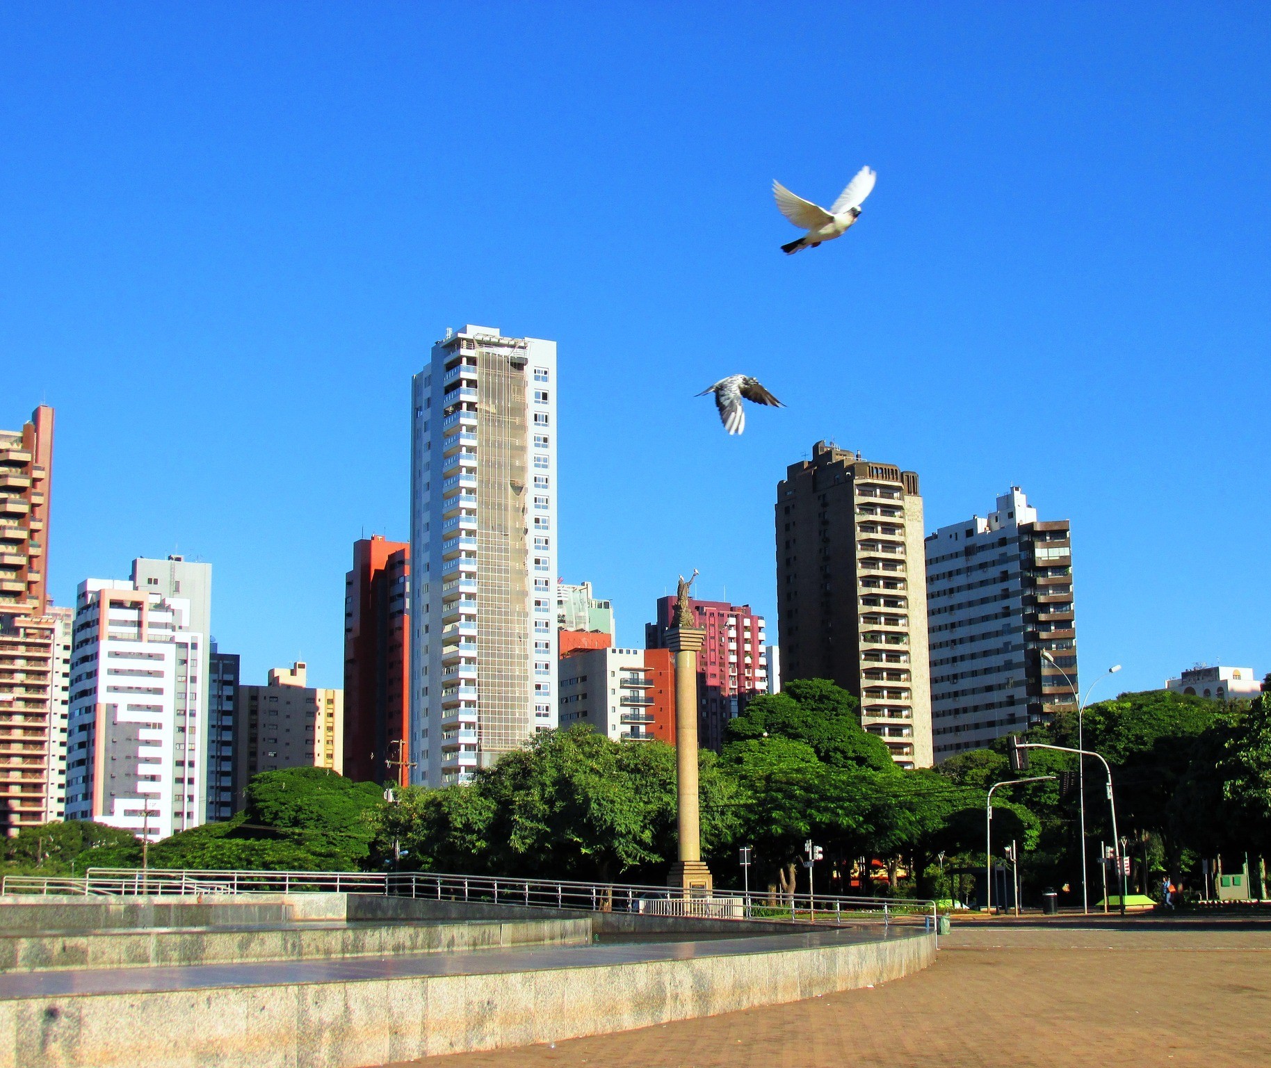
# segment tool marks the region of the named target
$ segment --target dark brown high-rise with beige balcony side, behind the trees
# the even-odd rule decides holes
[[[905,768],[932,764],[918,476],[817,441],[777,484],[782,681],[831,679]]]

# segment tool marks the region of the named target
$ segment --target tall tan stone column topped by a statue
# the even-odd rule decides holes
[[[697,577],[697,571],[693,572]],[[707,632],[694,627],[688,581],[680,576],[679,601],[666,645],[675,654],[675,769],[680,858],[671,865],[667,885],[684,896],[710,896],[714,880],[702,862],[702,823],[698,806],[698,654]]]

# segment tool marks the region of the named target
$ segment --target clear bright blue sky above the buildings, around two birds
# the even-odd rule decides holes
[[[0,426],[57,408],[60,603],[215,567],[244,678],[342,674],[446,327],[554,338],[562,567],[639,643],[679,571],[775,623],[817,439],[927,524],[1069,517],[1079,652],[1271,670],[1265,5],[8,4]],[[779,178],[878,186],[787,258]],[[789,406],[728,439],[747,371]],[[770,632],[775,633],[775,626]]]

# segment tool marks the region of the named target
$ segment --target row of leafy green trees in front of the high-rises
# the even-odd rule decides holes
[[[1271,704],[1223,706],[1166,692],[1122,694],[1085,712],[1084,741],[1113,765],[1117,815],[1144,889],[1200,857],[1271,852]],[[1074,745],[1075,716],[1028,735]],[[1016,839],[1031,891],[1077,887],[1075,758],[1033,750],[1055,781],[994,795],[994,837]],[[825,680],[755,698],[730,725],[722,754],[702,754],[703,853],[722,886],[740,882],[737,848],[754,847],[758,880],[788,886],[802,843],[825,847],[819,885],[846,893],[852,862],[886,872],[874,890],[952,896],[942,872],[984,863],[988,787],[1013,778],[1004,743],[938,769],[902,772],[862,730],[855,701]],[[258,776],[247,810],[151,847],[156,867],[433,870],[660,882],[676,852],[675,751],[616,744],[587,727],[538,735],[466,786],[381,787],[318,768]],[[1089,839],[1110,840],[1102,768],[1087,767]],[[131,835],[95,824],[23,832],[8,870],[69,872],[135,865]],[[1093,871],[1093,870],[1092,870]],[[901,882],[901,872],[904,872]],[[798,877],[803,877],[798,875]],[[1197,880],[1199,881],[1199,880]],[[963,885],[967,879],[963,877]],[[859,891],[858,891],[859,893]]]

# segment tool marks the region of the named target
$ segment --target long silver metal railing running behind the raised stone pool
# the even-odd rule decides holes
[[[522,908],[629,912],[653,915],[714,917],[782,923],[920,926],[934,929],[935,901],[858,898],[833,894],[782,894],[721,890],[686,896],[667,886],[574,882],[437,872],[214,871],[89,868],[83,879],[5,876],[5,894],[135,896],[149,894],[380,894]]]

